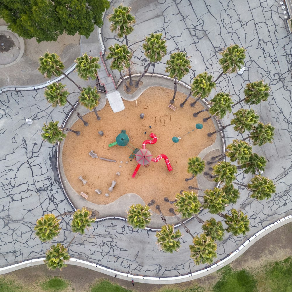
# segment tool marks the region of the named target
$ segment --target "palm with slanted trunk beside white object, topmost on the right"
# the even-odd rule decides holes
[[[222,58],[219,60],[219,64],[222,68],[222,72],[220,75],[215,79],[215,82],[223,75],[223,74],[231,74],[238,72],[241,67],[244,65],[245,59],[245,49],[239,48],[238,45],[230,45],[222,52]]]

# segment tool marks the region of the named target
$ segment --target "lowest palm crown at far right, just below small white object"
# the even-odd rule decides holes
[[[247,187],[252,191],[251,198],[257,200],[270,199],[271,194],[276,192],[273,181],[260,175],[252,178]]]

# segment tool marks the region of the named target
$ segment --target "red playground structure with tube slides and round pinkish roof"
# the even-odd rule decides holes
[[[132,178],[135,178],[135,175],[137,174],[139,168],[141,165],[149,166],[150,162],[158,162],[161,158],[164,159],[165,164],[167,166],[168,171],[172,171],[172,167],[170,165],[170,162],[168,160],[168,157],[165,154],[160,154],[156,158],[152,158],[151,152],[146,149],[147,144],[155,144],[158,140],[155,134],[151,133],[149,135],[153,140],[145,140],[142,144],[142,149],[138,150],[138,152],[135,155],[135,159],[138,162],[138,165],[135,168],[135,171],[132,175]]]

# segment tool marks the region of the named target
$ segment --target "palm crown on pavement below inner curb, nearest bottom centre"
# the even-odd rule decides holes
[[[174,232],[174,225],[163,225],[161,231],[157,231],[155,236],[157,237],[157,244],[167,253],[173,253],[180,248],[178,239],[181,237],[181,233],[179,230]]]

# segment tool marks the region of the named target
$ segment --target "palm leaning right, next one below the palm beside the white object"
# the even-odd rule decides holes
[[[268,99],[270,91],[270,87],[268,84],[265,84],[263,80],[248,83],[244,88],[245,98],[239,100],[239,102],[235,103],[232,107],[238,105],[242,101],[249,105],[258,105],[261,101],[266,101]]]

